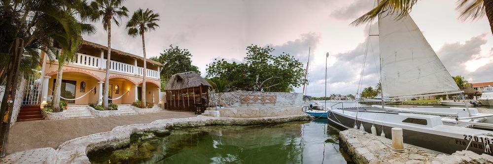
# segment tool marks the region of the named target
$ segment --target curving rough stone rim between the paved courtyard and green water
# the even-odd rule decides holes
[[[57,164],[89,164],[89,159],[86,155],[87,152],[109,147],[116,148],[125,146],[130,142],[130,135],[136,132],[145,131],[152,135],[153,131],[162,131],[172,127],[188,128],[212,125],[259,125],[301,120],[310,120],[310,117],[308,115],[295,115],[248,119],[197,116],[181,119],[156,120],[150,124],[120,126],[113,128],[111,131],[78,137],[63,143],[58,147],[56,153],[50,152],[50,155],[56,156]]]

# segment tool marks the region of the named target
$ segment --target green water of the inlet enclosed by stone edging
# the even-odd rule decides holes
[[[169,136],[133,141],[119,150],[90,153],[89,159],[105,164],[345,164],[339,131],[326,119],[177,129]]]

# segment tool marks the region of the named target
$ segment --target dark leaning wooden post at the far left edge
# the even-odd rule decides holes
[[[5,156],[5,144],[8,139],[8,131],[10,130],[10,118],[14,107],[17,82],[19,79],[19,66],[24,53],[24,40],[15,38],[10,49],[10,61],[7,66],[7,81],[5,84],[5,92],[1,101],[0,115],[2,120],[0,123],[0,156]]]

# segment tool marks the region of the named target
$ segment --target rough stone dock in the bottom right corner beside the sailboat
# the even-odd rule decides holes
[[[447,155],[404,144],[405,151],[394,151],[392,140],[356,129],[339,135],[341,147],[356,164],[493,164],[493,156],[465,150]]]

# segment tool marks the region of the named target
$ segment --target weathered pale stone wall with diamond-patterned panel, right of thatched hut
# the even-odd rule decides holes
[[[222,117],[275,117],[300,115],[301,101],[303,95],[300,93],[283,92],[226,92],[211,94],[208,110],[219,111]]]

